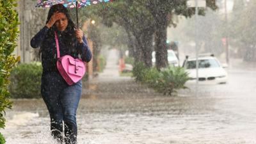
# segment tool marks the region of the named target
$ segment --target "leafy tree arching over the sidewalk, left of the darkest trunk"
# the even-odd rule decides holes
[[[120,0],[97,4],[92,9],[92,13],[102,17],[102,22],[106,26],[112,26],[113,22],[122,26],[127,31],[128,39],[135,41],[135,61],[143,61],[147,67],[152,66],[154,19],[145,6],[138,1]]]

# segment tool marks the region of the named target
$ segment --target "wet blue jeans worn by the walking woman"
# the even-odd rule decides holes
[[[81,92],[81,80],[68,86],[58,72],[42,76],[41,93],[51,118],[51,134],[60,143],[77,143],[76,111]]]

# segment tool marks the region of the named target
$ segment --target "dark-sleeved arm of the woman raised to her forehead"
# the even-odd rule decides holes
[[[33,48],[40,47],[42,42],[44,41],[44,38],[45,38],[48,30],[49,30],[49,28],[47,28],[47,26],[45,26],[38,33],[36,33],[36,35],[30,41],[31,47],[33,47]]]

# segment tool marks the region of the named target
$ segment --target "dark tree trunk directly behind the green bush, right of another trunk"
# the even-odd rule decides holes
[[[167,14],[159,15],[161,19],[156,24],[156,35],[155,35],[155,51],[156,51],[156,67],[157,69],[167,67]],[[165,17],[165,18],[164,18]]]

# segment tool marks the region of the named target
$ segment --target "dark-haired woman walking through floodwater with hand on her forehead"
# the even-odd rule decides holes
[[[69,86],[58,72],[54,31],[58,35],[60,56],[68,54],[88,62],[92,58],[92,53],[83,31],[75,28],[67,8],[62,4],[51,7],[46,25],[31,40],[31,47],[40,47],[42,54],[41,93],[51,118],[51,134],[60,143],[63,140],[68,144],[77,143],[76,110],[81,97],[82,83],[80,80]]]

